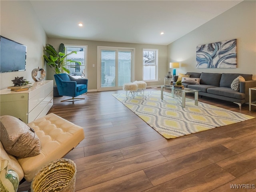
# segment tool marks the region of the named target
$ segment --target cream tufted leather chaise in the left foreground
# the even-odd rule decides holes
[[[84,130],[82,127],[53,113],[38,118],[28,123],[28,125],[35,130],[40,140],[41,153],[32,157],[17,158],[18,162],[13,156],[9,155],[13,160],[13,162],[11,162],[12,165],[14,164],[12,167],[17,169],[21,166],[24,172],[24,178],[27,181],[32,181],[42,166],[53,160],[64,157],[84,139]],[[2,149],[1,144],[1,150]],[[4,151],[1,152],[1,156],[2,153],[4,154]],[[16,171],[20,172],[20,170]]]

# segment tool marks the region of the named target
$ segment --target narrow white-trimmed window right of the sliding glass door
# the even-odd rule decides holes
[[[158,80],[158,49],[143,49],[143,80]]]

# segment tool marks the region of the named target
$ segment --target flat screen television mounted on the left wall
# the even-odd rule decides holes
[[[26,70],[27,47],[0,36],[0,72]]]

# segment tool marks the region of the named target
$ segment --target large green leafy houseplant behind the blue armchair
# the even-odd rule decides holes
[[[44,52],[46,53],[44,55],[44,60],[54,70],[56,74],[60,74],[61,72],[65,71],[68,74],[70,73],[70,70],[66,68],[66,66],[69,63],[76,62],[81,65],[81,62],[74,61],[72,59],[67,59],[67,56],[71,54],[77,54],[76,51],[72,51],[68,54],[65,54],[65,46],[63,43],[59,46],[59,52],[55,50],[55,48],[50,45],[46,44],[46,47],[44,48]]]

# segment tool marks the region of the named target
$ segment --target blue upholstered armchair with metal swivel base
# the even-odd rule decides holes
[[[54,75],[58,92],[62,96],[70,96],[71,99],[62,100],[74,102],[85,98],[75,98],[78,95],[87,93],[88,79],[76,79],[66,73]]]

